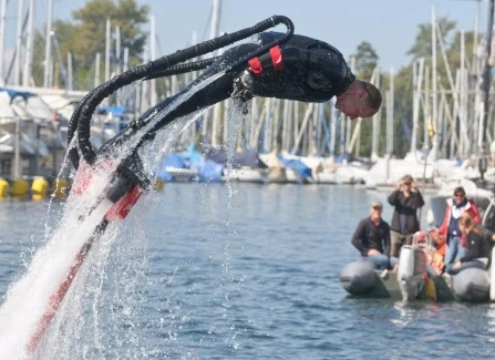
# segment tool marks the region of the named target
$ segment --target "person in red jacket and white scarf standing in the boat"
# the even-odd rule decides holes
[[[445,216],[439,228],[439,233],[445,238],[447,245],[444,258],[446,271],[464,256],[465,234],[458,227],[458,220],[464,214],[468,214],[473,223],[481,223],[476,203],[466,197],[464,187],[458,186],[454,189],[454,197],[447,199]]]

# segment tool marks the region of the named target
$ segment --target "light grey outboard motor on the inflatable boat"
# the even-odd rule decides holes
[[[398,281],[405,301],[417,300],[424,292],[426,254],[420,247],[404,245],[399,258]]]

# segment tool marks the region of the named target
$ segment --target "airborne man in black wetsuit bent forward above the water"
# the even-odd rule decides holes
[[[149,109],[131,126],[135,130],[141,127],[193,86],[281,35],[264,32],[258,35],[257,42],[230,48],[184,91]],[[244,70],[227,72],[195,91],[187,101],[175,104],[174,109],[159,119],[151,133],[174,119],[228,97],[248,101],[254,96],[303,102],[324,102],[336,96],[336,107],[352,120],[374,115],[382,102],[381,93],[375,86],[355,79],[339,50],[319,40],[293,35],[285,44],[271,48],[269,53],[251,59]]]

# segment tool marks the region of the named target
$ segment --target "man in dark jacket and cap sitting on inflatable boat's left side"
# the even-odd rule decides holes
[[[370,216],[359,222],[351,243],[362,258],[373,264],[375,269],[394,268],[399,259],[390,256],[390,227],[382,218],[383,205],[372,202]]]

